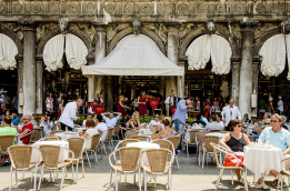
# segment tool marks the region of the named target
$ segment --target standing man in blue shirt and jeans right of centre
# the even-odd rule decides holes
[[[187,100],[183,99],[180,100],[178,102],[177,110],[172,119],[172,121],[174,122],[176,132],[181,131],[182,138],[184,137],[186,115],[187,115],[188,108],[193,108],[192,101],[193,99],[190,98]],[[178,150],[181,149],[182,138],[180,139]]]

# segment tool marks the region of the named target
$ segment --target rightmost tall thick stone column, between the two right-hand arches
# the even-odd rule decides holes
[[[252,46],[253,26],[251,21],[241,22],[242,26],[242,60],[240,69],[240,92],[239,109],[241,115],[251,114],[251,93],[252,93]]]

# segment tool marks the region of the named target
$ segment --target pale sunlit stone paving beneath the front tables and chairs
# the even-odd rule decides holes
[[[100,155],[98,155],[100,159]],[[91,161],[92,158],[91,158]],[[104,155],[102,160],[99,160],[99,165],[93,164],[90,169],[87,161],[84,161],[86,165],[86,177],[81,178],[81,168],[79,169],[79,180],[77,184],[72,183],[71,180],[71,171],[68,169],[68,177],[64,180],[63,190],[66,191],[81,191],[81,190],[97,190],[97,191],[112,191],[113,188],[109,187],[110,180],[110,168],[108,162],[108,157]],[[190,158],[187,158],[184,153],[179,154],[179,163],[180,169],[177,169],[176,163],[173,164],[172,169],[172,191],[213,191],[216,189],[214,181],[218,178],[219,170],[216,168],[214,161],[211,162],[209,160],[209,164],[204,165],[202,170],[201,167],[198,165],[196,160],[196,154],[191,154]],[[9,170],[10,167],[0,167],[0,190],[7,190],[9,187]],[[18,178],[21,178],[21,172],[18,173]],[[224,175],[222,177],[221,185],[219,190],[243,190],[243,185],[237,181],[234,175],[234,183],[231,184],[231,175],[230,171],[224,171]],[[138,178],[137,178],[138,180]],[[266,183],[271,187],[273,178],[267,177]],[[254,188],[252,183],[252,175],[248,173],[248,181],[251,182],[250,191],[258,190]],[[127,175],[127,185],[123,184],[124,179],[123,175],[121,181],[119,182],[119,190],[120,191],[133,191],[138,190],[138,187],[133,184],[132,175]],[[167,177],[161,177],[157,179],[157,187],[154,189],[153,181],[148,184],[149,191],[157,191],[157,190],[166,190],[167,189]],[[57,191],[59,190],[60,180],[56,181],[54,183],[49,182],[49,173],[44,175],[44,182],[41,184],[41,190],[43,191]],[[33,190],[32,184],[30,182],[30,172],[26,172],[24,179],[18,181],[18,185],[14,185],[14,178],[13,178],[13,185],[12,191],[28,191]],[[142,188],[143,190],[143,188]],[[271,190],[274,190],[271,187]]]

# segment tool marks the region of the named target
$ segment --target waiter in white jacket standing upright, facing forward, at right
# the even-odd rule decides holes
[[[230,121],[233,120],[233,119],[237,119],[237,118],[238,118],[239,120],[241,120],[241,113],[240,113],[238,107],[234,107],[234,105],[233,105],[234,100],[231,99],[229,103],[230,103],[230,104],[227,105],[227,107],[224,107],[224,108],[222,109],[222,112],[221,112],[222,120],[223,120],[226,127],[228,127],[228,124],[230,123]]]

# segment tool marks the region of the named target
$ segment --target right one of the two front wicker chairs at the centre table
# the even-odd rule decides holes
[[[159,175],[168,175],[168,189],[171,190],[171,165],[173,163],[174,157],[169,149],[149,149],[146,150],[148,157],[149,165],[142,164],[144,173],[144,190],[147,190],[147,173],[154,177],[154,188],[156,180]],[[168,161],[168,154],[170,153],[170,160]]]

